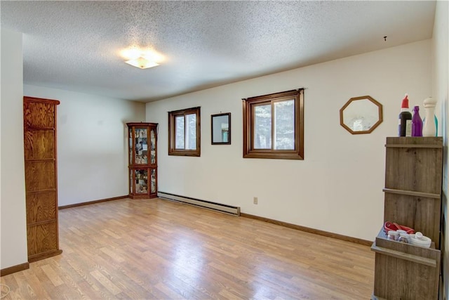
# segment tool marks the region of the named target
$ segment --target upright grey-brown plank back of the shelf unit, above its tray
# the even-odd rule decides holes
[[[385,188],[431,193],[437,198],[385,193],[384,221],[408,226],[431,238],[439,249],[441,223],[442,138],[387,138]],[[420,145],[420,148],[415,148]],[[430,148],[425,146],[429,145]]]

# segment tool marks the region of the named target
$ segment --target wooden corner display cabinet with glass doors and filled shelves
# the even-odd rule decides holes
[[[157,197],[157,123],[127,123],[129,197]]]

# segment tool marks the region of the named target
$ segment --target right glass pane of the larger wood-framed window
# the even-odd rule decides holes
[[[274,103],[274,149],[295,150],[295,100]]]

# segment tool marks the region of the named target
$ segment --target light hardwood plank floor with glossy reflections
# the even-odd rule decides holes
[[[373,292],[369,247],[272,223],[157,198],[63,209],[59,218],[63,253],[2,277],[11,288],[5,300],[347,300]]]

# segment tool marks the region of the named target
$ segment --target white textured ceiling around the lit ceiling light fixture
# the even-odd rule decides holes
[[[430,39],[435,1],[1,1],[25,84],[149,102]],[[384,41],[387,36],[387,41]],[[166,57],[140,70],[133,44]]]

